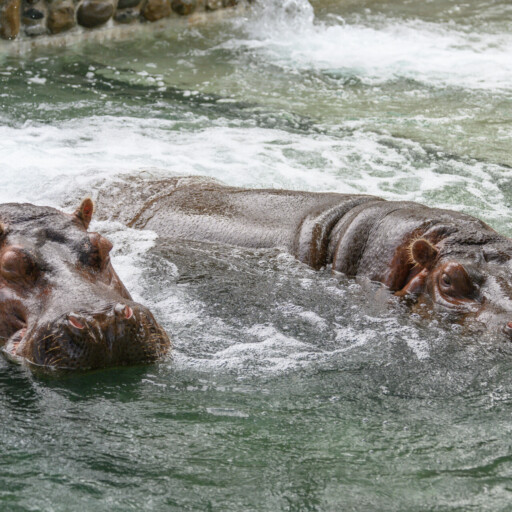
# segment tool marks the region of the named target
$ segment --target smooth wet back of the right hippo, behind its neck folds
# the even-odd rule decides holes
[[[137,188],[123,186],[137,204],[135,213],[122,219],[130,227],[171,239],[280,247],[314,268],[326,264],[329,231],[339,219],[358,205],[382,201],[369,195],[228,187],[204,177],[157,180],[142,197]],[[109,193],[98,200],[110,202]],[[125,212],[114,212],[120,214]]]

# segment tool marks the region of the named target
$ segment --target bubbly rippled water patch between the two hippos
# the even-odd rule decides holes
[[[169,332],[173,371],[251,381],[362,367],[393,392],[413,382],[423,394],[439,387],[435,373],[417,381],[426,367],[464,373],[496,357],[496,340],[480,331],[461,333],[428,311],[411,315],[378,284],[316,272],[276,250],[147,243],[138,242],[143,260],[114,263]]]

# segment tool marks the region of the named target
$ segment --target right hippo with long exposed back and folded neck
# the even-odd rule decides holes
[[[470,215],[371,195],[244,189],[201,177],[119,187],[133,208],[111,211],[130,227],[174,239],[281,247],[314,269],[366,277],[408,303],[430,302],[446,317],[475,317],[512,336],[512,241]],[[108,193],[100,198],[111,203]]]

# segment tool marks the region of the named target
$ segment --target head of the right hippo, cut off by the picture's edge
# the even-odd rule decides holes
[[[512,241],[490,228],[478,235],[413,241],[416,275],[399,294],[426,294],[436,307],[512,337]]]

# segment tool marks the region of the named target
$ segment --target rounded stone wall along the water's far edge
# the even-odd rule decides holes
[[[62,34],[151,24],[235,7],[244,0],[0,0],[0,38],[48,41]],[[155,27],[158,24],[155,24]],[[121,29],[121,30],[120,30]],[[129,32],[129,30],[128,30]]]

